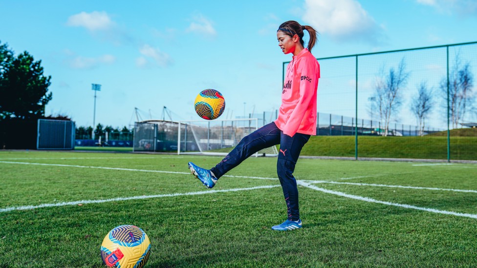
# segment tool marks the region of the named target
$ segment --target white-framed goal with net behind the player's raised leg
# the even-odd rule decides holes
[[[178,126],[177,154],[227,155],[248,134],[258,129],[258,119],[181,121]],[[260,150],[255,156],[278,155],[276,146]]]

